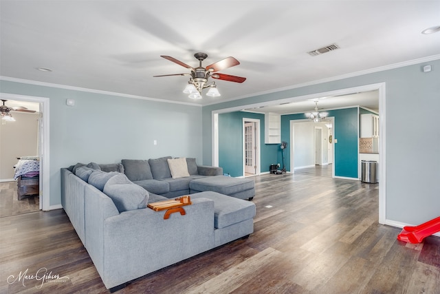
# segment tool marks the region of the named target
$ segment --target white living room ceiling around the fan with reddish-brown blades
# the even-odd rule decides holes
[[[440,25],[439,13],[440,1],[421,0],[1,0],[0,75],[208,105],[438,59],[440,33],[421,31]],[[332,43],[340,49],[307,54]],[[196,67],[195,52],[208,54],[203,65],[234,56],[241,64],[221,73],[247,80],[215,80],[221,97],[193,101],[181,92],[188,76],[153,78],[187,72],[160,55]],[[368,99],[362,103],[375,108]]]

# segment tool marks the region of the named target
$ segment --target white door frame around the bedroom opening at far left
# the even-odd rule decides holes
[[[50,158],[49,158],[49,98],[24,96],[17,94],[1,93],[1,99],[16,100],[40,103],[40,112],[43,114],[41,124],[39,125],[39,136],[41,136],[40,149],[40,209],[44,211],[50,210]]]

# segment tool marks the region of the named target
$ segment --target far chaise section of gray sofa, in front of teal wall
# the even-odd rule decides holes
[[[247,178],[229,176],[208,176],[190,182],[190,193],[214,191],[235,198],[252,200],[255,196],[255,182]]]

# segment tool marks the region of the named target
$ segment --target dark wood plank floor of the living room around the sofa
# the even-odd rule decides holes
[[[252,178],[257,213],[249,238],[118,293],[440,293],[440,238],[406,244],[396,239],[400,229],[378,224],[377,184],[309,174]],[[62,209],[0,218],[0,235],[0,293],[107,293]],[[43,268],[65,278],[8,284],[10,275]]]

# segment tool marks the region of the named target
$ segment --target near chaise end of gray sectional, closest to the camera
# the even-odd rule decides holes
[[[255,204],[217,192],[191,194],[191,199],[214,201],[214,245],[220,246],[254,232]]]

